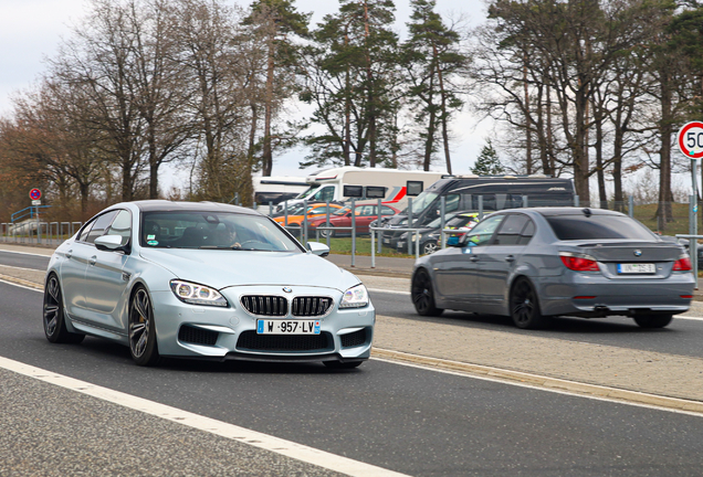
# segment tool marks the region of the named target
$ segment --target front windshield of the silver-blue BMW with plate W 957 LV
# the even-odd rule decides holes
[[[145,212],[139,240],[146,248],[302,252],[267,218],[229,212]]]

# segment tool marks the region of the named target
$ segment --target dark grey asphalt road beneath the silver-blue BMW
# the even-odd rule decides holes
[[[703,464],[703,417],[689,414],[380,360],[345,372],[319,364],[200,361],[144,369],[130,362],[126,348],[103,340],[49,343],[41,294],[2,283],[0,327],[2,357],[409,475],[697,476]],[[22,443],[29,423],[32,445],[42,422],[55,414],[51,400],[36,398],[45,400],[36,405],[32,399],[42,393],[35,391],[2,395],[13,416],[32,416],[0,417],[9,420],[1,427],[21,425],[11,432]],[[101,421],[101,438],[109,439],[118,431],[109,426],[134,413],[111,412],[116,415]],[[83,418],[71,421],[72,448],[95,444],[94,418],[86,407]],[[6,452],[0,447],[0,460]]]

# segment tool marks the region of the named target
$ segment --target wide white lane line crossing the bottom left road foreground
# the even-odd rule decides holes
[[[179,410],[177,407],[171,407],[166,404],[145,400],[119,391],[102,388],[85,381],[80,381],[7,358],[0,357],[0,368],[4,368],[6,370],[13,371],[25,377],[34,378],[46,383],[55,384],[61,388],[87,394],[90,396],[97,398],[113,404],[117,404],[135,411],[140,411],[145,414],[161,417],[167,421],[182,424],[199,431],[204,431],[210,434],[219,435],[232,441],[281,454],[286,457],[304,462],[306,464],[324,467],[340,474],[358,477],[406,477],[405,474],[399,474],[381,467],[373,466],[370,464],[353,460],[350,458],[308,447],[303,444],[297,444],[291,441],[270,436],[267,434],[251,431],[210,417],[204,417],[198,414]]]

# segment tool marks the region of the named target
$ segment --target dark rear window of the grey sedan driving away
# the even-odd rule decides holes
[[[654,235],[641,223],[620,215],[547,215],[559,240],[630,239],[654,241]]]

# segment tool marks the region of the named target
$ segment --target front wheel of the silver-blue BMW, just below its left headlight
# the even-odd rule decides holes
[[[138,365],[159,362],[154,307],[146,288],[138,286],[129,300],[129,353]]]

